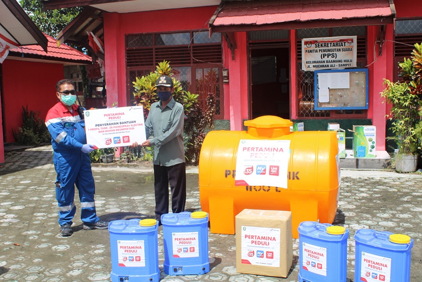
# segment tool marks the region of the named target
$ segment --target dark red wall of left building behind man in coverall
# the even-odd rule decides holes
[[[12,129],[22,126],[22,106],[39,111],[39,117],[45,119],[57,102],[55,84],[63,78],[63,64],[11,59],[3,62],[5,143],[13,143]]]

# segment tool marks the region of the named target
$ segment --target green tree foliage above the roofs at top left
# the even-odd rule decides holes
[[[82,10],[76,7],[45,11],[40,0],[19,0],[19,4],[42,32],[54,38]]]

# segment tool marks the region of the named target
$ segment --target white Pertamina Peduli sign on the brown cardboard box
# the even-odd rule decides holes
[[[242,264],[280,267],[280,228],[242,226]]]

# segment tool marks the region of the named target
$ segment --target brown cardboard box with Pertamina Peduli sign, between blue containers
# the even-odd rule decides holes
[[[287,277],[292,260],[291,211],[244,209],[236,216],[237,272]]]

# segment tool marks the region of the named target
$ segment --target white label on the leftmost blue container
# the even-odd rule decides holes
[[[118,266],[144,267],[144,240],[117,240]]]

